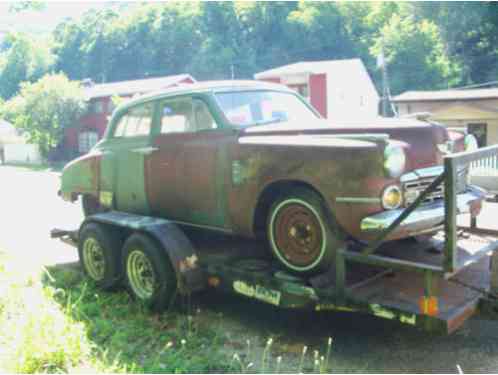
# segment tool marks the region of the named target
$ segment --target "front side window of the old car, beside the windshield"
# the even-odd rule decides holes
[[[202,100],[170,99],[162,102],[161,108],[161,134],[191,133],[217,127]]]

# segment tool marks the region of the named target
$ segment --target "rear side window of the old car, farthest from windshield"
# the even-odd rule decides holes
[[[153,104],[147,103],[131,108],[119,120],[114,137],[140,137],[150,134]]]

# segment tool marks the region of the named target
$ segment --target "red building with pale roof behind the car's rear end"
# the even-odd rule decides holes
[[[79,124],[67,129],[62,148],[66,157],[88,152],[102,138],[107,122],[114,110],[112,97],[131,98],[136,95],[165,89],[181,84],[195,82],[189,74],[95,84],[90,80],[82,81],[88,111]]]

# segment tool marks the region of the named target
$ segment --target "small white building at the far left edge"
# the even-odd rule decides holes
[[[29,144],[11,123],[0,119],[0,163],[39,164],[37,145]]]

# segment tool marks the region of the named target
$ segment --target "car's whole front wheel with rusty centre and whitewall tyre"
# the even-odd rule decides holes
[[[277,199],[267,221],[269,245],[275,258],[289,271],[313,274],[334,264],[338,235],[318,194],[294,189]]]

